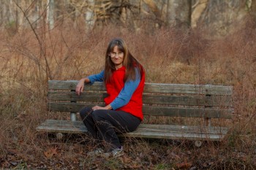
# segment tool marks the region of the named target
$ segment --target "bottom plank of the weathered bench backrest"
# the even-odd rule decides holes
[[[94,107],[95,104],[86,104]],[[48,109],[55,112],[80,112],[85,107],[81,103],[48,103]],[[233,109],[211,109],[211,108],[181,108],[181,107],[150,107],[143,106],[144,115],[170,116],[170,117],[211,117],[230,119]]]

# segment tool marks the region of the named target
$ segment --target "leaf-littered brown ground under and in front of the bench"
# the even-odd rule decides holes
[[[222,142],[166,139],[121,139],[124,155],[118,158],[90,156],[96,144],[86,135],[68,135],[56,139],[55,134],[36,132],[20,115],[10,124],[1,142],[2,169],[255,169],[255,136],[234,136],[230,131]],[[3,137],[3,136],[2,136]],[[236,137],[236,139],[235,139]],[[241,146],[236,148],[238,142]]]

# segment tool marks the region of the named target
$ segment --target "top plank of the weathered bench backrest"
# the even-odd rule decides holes
[[[75,90],[78,81],[50,80],[48,88],[51,90]],[[85,90],[105,90],[103,82],[94,82],[93,85],[85,85]],[[145,83],[144,93],[191,93],[205,95],[232,95],[232,86],[223,85],[184,85]]]

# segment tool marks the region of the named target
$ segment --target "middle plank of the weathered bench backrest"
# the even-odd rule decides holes
[[[49,101],[86,101],[104,102],[108,94],[85,92],[78,96],[75,92],[50,91]],[[207,107],[229,107],[231,98],[227,96],[164,96],[160,94],[144,94],[143,104],[165,104],[165,105],[187,105],[187,106],[207,106]]]

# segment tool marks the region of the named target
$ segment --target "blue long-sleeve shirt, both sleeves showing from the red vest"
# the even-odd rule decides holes
[[[136,77],[135,80],[127,80],[124,82],[124,88],[121,89],[118,96],[110,103],[110,106],[113,110],[123,107],[124,105],[128,104],[129,100],[132,98],[132,94],[135,92],[136,88],[140,84],[140,74],[139,70],[136,70]],[[89,80],[91,84],[94,82],[103,82],[104,80],[104,70],[99,74],[90,75]]]

